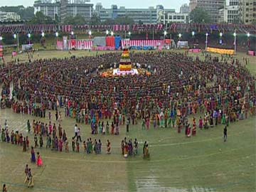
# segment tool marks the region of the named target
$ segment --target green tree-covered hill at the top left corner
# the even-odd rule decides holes
[[[1,6],[0,11],[15,12],[21,16],[21,20],[30,20],[34,16],[33,6]]]

